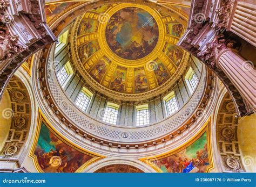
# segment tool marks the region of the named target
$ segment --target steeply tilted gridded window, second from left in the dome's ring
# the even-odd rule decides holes
[[[65,87],[65,84],[69,81],[72,74],[73,74],[73,69],[71,67],[70,62],[68,61],[57,72],[57,78],[58,78],[60,85],[62,85],[62,87]]]

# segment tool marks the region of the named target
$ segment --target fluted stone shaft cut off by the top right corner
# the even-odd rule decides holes
[[[237,34],[256,46],[256,2],[235,2],[227,31]]]

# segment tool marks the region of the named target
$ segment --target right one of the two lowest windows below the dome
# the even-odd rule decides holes
[[[136,126],[149,124],[149,105],[136,106]]]

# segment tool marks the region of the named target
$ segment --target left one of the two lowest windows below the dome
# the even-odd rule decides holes
[[[103,121],[108,124],[117,124],[119,105],[107,102],[106,109],[103,116]]]

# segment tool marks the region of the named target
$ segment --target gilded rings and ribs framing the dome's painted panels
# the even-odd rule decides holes
[[[108,2],[110,3],[110,2]],[[134,2],[132,2],[134,4]],[[131,6],[131,3],[122,3],[119,5],[116,5],[114,7],[111,7],[109,10],[107,10],[105,13],[108,15],[113,14],[113,12],[120,10],[124,7]],[[80,39],[80,35],[77,35],[78,33],[78,28],[81,23],[81,21],[84,19],[83,16],[79,16],[77,20],[72,24],[72,29],[71,29],[71,34],[70,34],[70,45],[69,49],[71,51],[70,53],[70,59],[71,63],[73,64],[73,67],[78,70],[79,75],[82,75],[83,79],[87,82],[87,84],[90,85],[94,90],[98,90],[99,92],[103,93],[104,95],[107,95],[109,97],[119,99],[119,100],[139,100],[140,98],[144,99],[149,99],[154,96],[159,95],[161,92],[165,92],[169,87],[173,87],[173,85],[176,83],[177,79],[180,77],[180,75],[185,73],[185,68],[188,64],[188,61],[190,60],[190,56],[187,52],[183,51],[183,57],[181,59],[180,65],[176,67],[176,64],[174,64],[169,57],[167,57],[162,51],[164,49],[164,46],[169,41],[166,41],[167,33],[166,33],[166,26],[161,20],[162,16],[159,15],[153,8],[150,8],[146,5],[140,4],[137,2],[133,6],[136,6],[138,8],[144,9],[147,12],[150,13],[154,17],[154,19],[157,21],[158,27],[159,27],[159,38],[156,47],[153,49],[153,51],[143,57],[142,59],[139,60],[125,60],[122,57],[117,56],[114,54],[109,46],[107,45],[107,41],[105,39],[105,27],[107,25],[107,22],[105,23],[100,23],[99,22],[99,28],[97,32],[93,32],[92,35],[95,35],[97,33],[97,38],[95,37],[90,37],[90,40],[97,40],[99,43],[100,49],[95,52],[93,55],[91,55],[89,58],[85,59],[82,61],[80,59],[80,55],[78,53],[78,48],[81,46],[80,40],[83,41],[83,45],[87,44],[89,40],[85,41],[84,39]],[[164,6],[163,5],[158,5],[157,10],[160,10],[161,12],[164,11]],[[92,17],[92,13],[89,12],[88,16]],[[93,13],[94,14],[94,13]],[[169,15],[169,17],[173,17],[174,14],[181,15],[181,11],[176,11],[170,13],[170,10],[166,10],[166,14]],[[86,14],[85,14],[86,15]],[[98,15],[95,16],[98,18]],[[173,21],[173,23],[177,23],[176,21]],[[179,22],[178,22],[179,23]],[[181,23],[179,23],[181,24]],[[99,34],[101,33],[101,34]],[[87,37],[91,36],[91,34],[87,34]],[[90,74],[89,71],[92,69],[93,64],[95,64],[97,61],[103,58],[105,56],[107,59],[110,60],[110,65],[107,69],[107,73],[105,73],[105,76],[100,80],[100,83],[97,82]],[[169,80],[167,80],[165,83],[161,84],[158,86],[158,83],[156,81],[156,77],[154,73],[150,72],[153,70],[149,70],[146,66],[148,65],[149,62],[154,62],[154,60],[160,59],[160,61],[164,64],[165,68],[169,73],[171,71],[175,70],[175,72],[170,75]],[[154,62],[156,63],[156,62]],[[145,91],[142,93],[135,93],[134,91],[134,68],[131,67],[130,65],[133,65],[136,68],[143,68],[145,70],[145,75],[147,77],[147,82],[148,82],[148,88],[149,91]],[[127,85],[132,85],[130,87],[131,92],[128,92],[127,90],[124,89],[124,92],[117,92],[114,90],[111,90],[109,88],[110,82],[112,81],[112,77],[107,76],[107,74],[112,75],[114,71],[116,70],[116,67],[122,67],[122,68],[127,68],[127,77],[125,81],[125,88],[127,88]],[[149,65],[150,66],[150,65]],[[156,66],[153,64],[153,66]],[[167,68],[168,67],[168,68]],[[170,67],[173,67],[173,69],[169,69]],[[153,67],[154,68],[154,67]],[[131,69],[131,70],[129,70]],[[132,74],[132,76],[128,77],[129,74]],[[131,80],[130,82],[127,80]],[[106,83],[107,85],[103,85],[103,82]],[[149,83],[151,82],[151,83]],[[151,85],[154,85],[154,87],[151,88]]]

